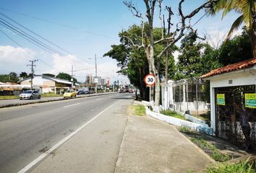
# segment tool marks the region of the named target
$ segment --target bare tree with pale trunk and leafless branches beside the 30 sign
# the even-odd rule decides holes
[[[179,1],[179,17],[180,21],[176,23],[176,28],[174,32],[166,32],[165,23],[171,23],[171,14],[173,12],[171,10],[167,10],[167,21],[164,22],[165,17],[161,14],[162,13],[162,0],[144,0],[145,4],[145,14],[140,13],[139,9],[137,9],[136,5],[133,4],[131,1],[124,1],[124,4],[131,10],[131,12],[136,16],[140,17],[142,21],[142,40],[141,43],[137,44],[135,43],[130,37],[126,37],[130,42],[136,47],[136,48],[143,48],[145,50],[145,54],[147,56],[148,65],[149,65],[149,71],[151,74],[155,75],[155,106],[160,105],[160,71],[158,71],[157,63],[155,61],[159,61],[161,58],[163,58],[164,55],[166,55],[167,50],[170,48],[173,48],[174,44],[178,42],[183,36],[184,32],[186,30],[190,30],[191,26],[189,25],[189,21],[192,17],[195,16],[198,12],[200,12],[201,9],[209,8],[213,5],[214,2],[218,0],[210,0],[199,6],[197,9],[193,10],[189,14],[185,15],[182,11],[182,4],[185,0]],[[155,8],[158,7],[158,11],[155,10]],[[171,7],[169,7],[171,9]],[[161,39],[157,39],[154,37],[153,33],[153,23],[155,19],[155,12],[159,12],[159,19],[162,21],[162,36]],[[148,27],[144,27],[145,24],[148,25]],[[145,30],[147,29],[147,30]],[[155,45],[158,45],[159,43],[166,43],[166,45],[163,47],[163,50],[161,50],[160,53],[155,53]],[[167,80],[167,79],[166,79]]]

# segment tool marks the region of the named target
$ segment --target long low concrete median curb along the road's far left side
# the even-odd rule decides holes
[[[85,98],[85,97],[97,97],[97,96],[101,96],[101,95],[107,95],[107,94],[115,94],[114,92],[111,93],[104,93],[104,94],[92,94],[92,95],[85,95],[83,97],[74,97],[72,99],[80,99],[80,98]],[[61,100],[66,100],[63,97],[59,98],[59,99],[49,99],[49,100],[38,100],[35,102],[25,102],[25,103],[15,103],[15,104],[9,104],[9,105],[0,105],[0,109],[4,108],[4,107],[16,107],[16,106],[23,106],[23,105],[31,105],[31,104],[35,104],[35,103],[44,103],[44,102],[56,102],[56,101],[61,101]]]

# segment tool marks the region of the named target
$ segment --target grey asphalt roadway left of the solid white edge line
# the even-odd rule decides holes
[[[20,171],[106,107],[131,97],[111,94],[1,108],[0,172]]]

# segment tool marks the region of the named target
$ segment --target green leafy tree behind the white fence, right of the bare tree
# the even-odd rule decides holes
[[[181,43],[176,80],[201,76],[222,66],[218,61],[218,50],[198,41],[196,31],[189,32]]]

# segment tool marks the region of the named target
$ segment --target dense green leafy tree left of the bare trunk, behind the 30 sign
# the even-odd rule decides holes
[[[132,25],[127,31],[120,32],[121,44],[111,45],[111,50],[105,53],[104,56],[116,59],[117,66],[121,68],[119,73],[127,75],[129,81],[140,89],[142,99],[148,100],[147,89],[143,82],[143,78],[148,74],[148,62],[145,52],[134,48],[127,39],[123,38],[123,35],[129,35],[134,40],[141,40],[141,31],[142,27]]]

